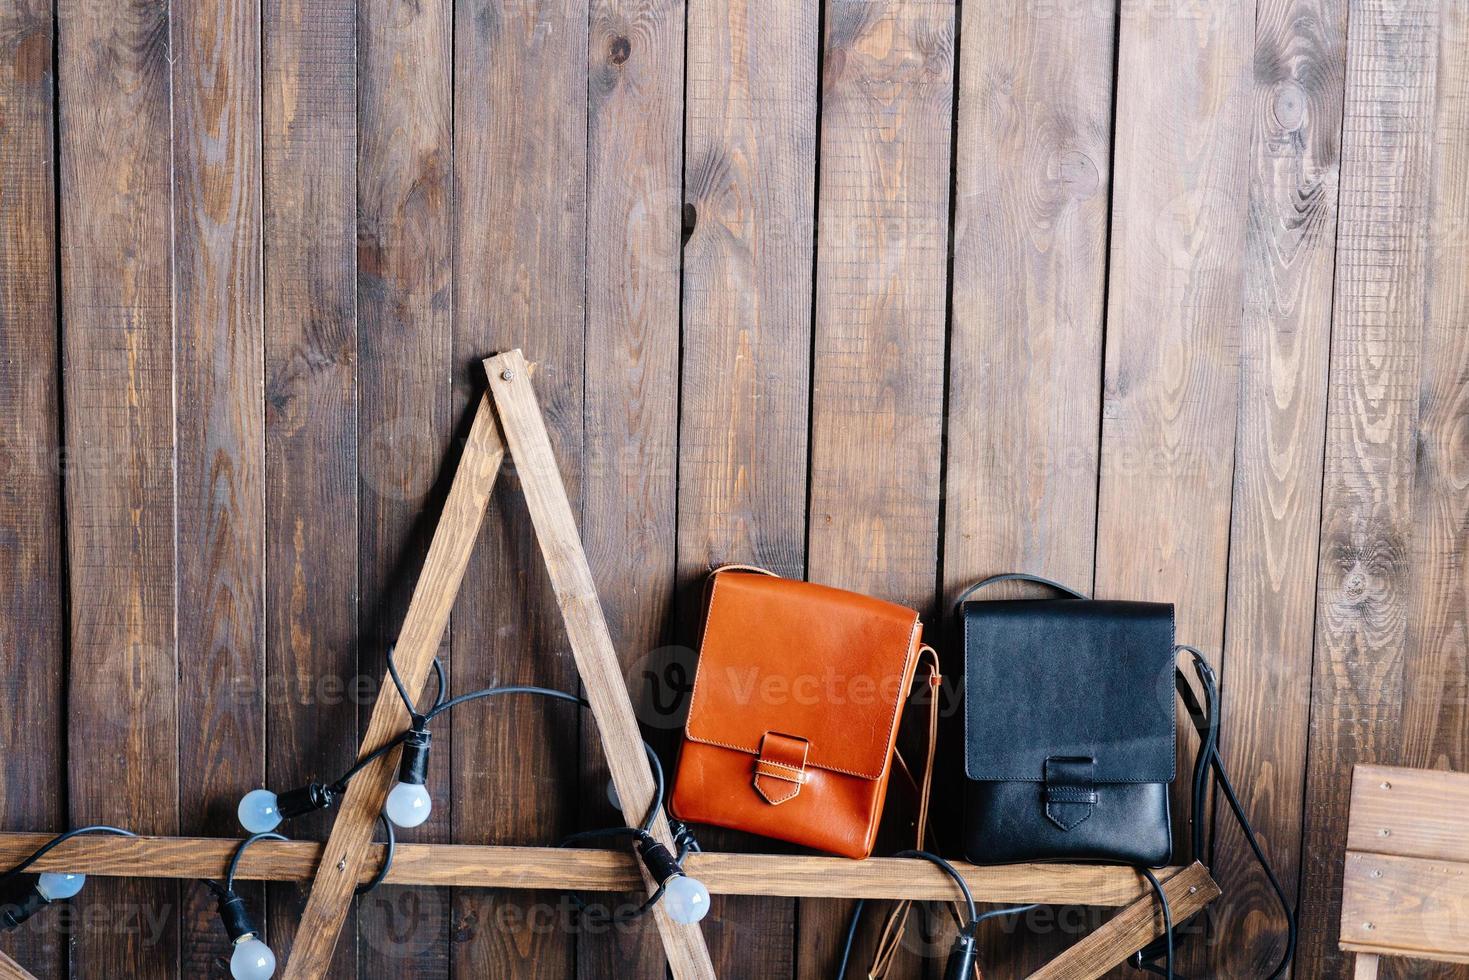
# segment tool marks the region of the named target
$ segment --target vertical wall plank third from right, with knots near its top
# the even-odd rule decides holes
[[[1346,26],[1341,0],[1260,0],[1256,13],[1221,743],[1290,893],[1310,714]],[[1215,826],[1221,932],[1202,973],[1247,976],[1279,959],[1284,927],[1222,801]]]

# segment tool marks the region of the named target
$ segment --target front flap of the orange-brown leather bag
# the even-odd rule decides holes
[[[809,582],[717,572],[686,735],[758,755],[804,739],[806,764],[877,779],[918,651],[914,610]]]

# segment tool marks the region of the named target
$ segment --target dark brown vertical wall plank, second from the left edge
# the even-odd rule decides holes
[[[57,18],[71,821],[176,833],[167,3]],[[178,895],[93,883],[78,976],[172,976]]]

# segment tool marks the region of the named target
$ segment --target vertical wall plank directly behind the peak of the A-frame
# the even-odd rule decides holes
[[[458,0],[454,29],[455,406],[479,400],[480,359],[524,348],[579,511],[588,4]],[[513,461],[485,523],[454,613],[454,648],[473,651],[457,689],[576,689]],[[530,698],[454,713],[455,840],[554,843],[576,829],[576,714]],[[571,976],[576,940],[560,909],[536,892],[457,893],[454,976]]]

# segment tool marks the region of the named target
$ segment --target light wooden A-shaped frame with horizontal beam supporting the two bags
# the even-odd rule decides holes
[[[621,669],[602,614],[592,570],[582,548],[545,420],[530,386],[530,366],[520,351],[485,360],[489,391],[480,400],[464,454],[414,586],[395,658],[411,696],[417,696],[448,626],[450,608],[464,579],[489,495],[507,453],[516,460],[526,508],[535,526],[567,639],[586,699],[602,736],[613,785],[629,823],[638,823],[654,798],[654,777],[642,749]],[[388,691],[391,679],[383,679]],[[361,754],[408,727],[398,698],[373,707]],[[397,768],[389,752],[350,783],[326,843],[261,840],[245,855],[241,880],[314,879],[282,977],[316,980],[331,965],[338,933],[358,882],[369,880],[383,845],[372,833]],[[660,815],[654,835],[670,842]],[[13,865],[48,835],[0,833],[0,868]],[[120,877],[219,877],[238,842],[190,837],[73,837],[47,854],[35,871],[72,871]],[[952,901],[953,884],[924,861],[799,855],[693,854],[687,868],[715,895],[795,898],[908,898]],[[1136,871],[1102,865],[958,865],[980,901],[1119,907],[1106,924],[1031,974],[1033,980],[1090,980],[1162,934],[1152,892]],[[1166,868],[1163,880],[1177,921],[1219,896],[1203,865]],[[398,845],[391,873],[398,884],[514,889],[632,890],[652,883],[630,851],[558,848]],[[655,907],[655,921],[674,980],[714,977],[698,926],[680,926]],[[0,952],[0,980],[31,977]],[[32,979],[34,980],[34,979]]]

